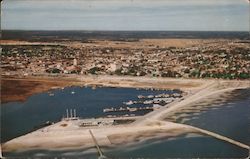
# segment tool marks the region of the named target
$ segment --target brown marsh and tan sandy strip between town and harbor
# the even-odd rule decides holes
[[[194,92],[206,87],[211,83],[230,83],[237,85],[249,85],[247,80],[221,80],[221,79],[184,79],[184,78],[154,78],[133,76],[89,76],[89,75],[63,75],[50,77],[27,76],[1,78],[1,104],[8,102],[23,102],[29,96],[47,92],[57,88],[71,86],[90,87],[117,87],[138,89],[180,89],[186,92]],[[17,89],[18,88],[18,89]]]

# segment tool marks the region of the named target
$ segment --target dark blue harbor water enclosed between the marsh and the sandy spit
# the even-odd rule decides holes
[[[71,92],[74,91],[75,94]],[[66,116],[66,109],[76,109],[82,118],[100,117],[103,108],[120,107],[123,102],[138,100],[138,95],[174,93],[164,90],[137,90],[134,88],[68,87],[49,93],[35,94],[25,102],[11,102],[1,106],[1,142],[26,134],[46,121],[57,122]],[[143,115],[146,112],[138,112]]]

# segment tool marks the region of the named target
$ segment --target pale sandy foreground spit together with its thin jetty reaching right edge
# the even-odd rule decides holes
[[[161,124],[155,125],[155,122]],[[89,130],[93,131],[95,137],[98,140],[99,146],[110,148],[117,146],[136,146],[150,140],[176,138],[180,135],[189,133],[210,136],[218,140],[239,146],[243,149],[250,148],[249,145],[235,141],[220,134],[190,125],[166,121],[153,121],[152,123],[137,127],[133,125],[111,126],[104,128],[85,128],[78,131],[63,130],[62,132],[58,132],[55,130],[48,130],[47,132],[44,132],[42,131],[44,129],[46,128],[31,132],[3,143],[3,153],[25,152],[33,150],[63,151],[69,149],[93,149],[95,144],[88,133]]]

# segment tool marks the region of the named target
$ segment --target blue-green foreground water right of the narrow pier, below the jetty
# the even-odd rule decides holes
[[[248,150],[212,137],[178,137],[153,144],[142,144],[134,149],[117,149],[105,153],[113,158],[240,158]]]

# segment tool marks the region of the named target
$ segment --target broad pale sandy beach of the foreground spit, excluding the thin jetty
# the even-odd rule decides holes
[[[3,151],[24,151],[31,149],[65,149],[90,148],[94,143],[89,134],[92,130],[99,145],[115,146],[142,142],[156,137],[171,137],[188,132],[195,132],[188,126],[181,124],[161,122],[159,125],[148,124],[138,127],[110,126],[103,128],[77,128],[69,121],[69,126],[61,127],[65,121],[56,123],[22,137],[5,143]]]

